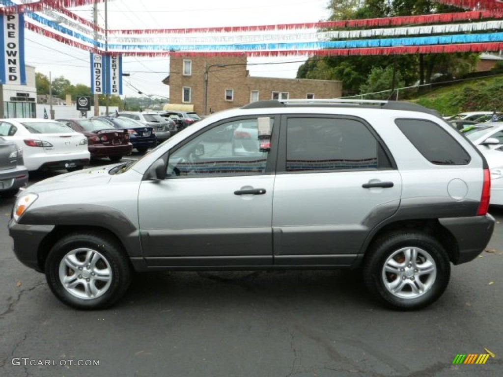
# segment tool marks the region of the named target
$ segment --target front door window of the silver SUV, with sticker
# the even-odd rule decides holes
[[[259,140],[259,124],[269,124],[272,130],[273,121],[269,117],[238,120],[206,131],[170,155],[167,176],[264,173],[270,142]]]

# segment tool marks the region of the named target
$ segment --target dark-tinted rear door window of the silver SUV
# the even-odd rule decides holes
[[[286,170],[376,169],[391,167],[380,144],[359,121],[290,118]]]

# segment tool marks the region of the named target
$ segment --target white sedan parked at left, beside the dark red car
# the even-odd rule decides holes
[[[2,119],[0,136],[23,148],[24,163],[29,171],[80,170],[91,158],[86,136],[49,119]]]

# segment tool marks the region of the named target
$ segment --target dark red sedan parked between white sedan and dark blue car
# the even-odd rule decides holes
[[[127,130],[115,129],[100,119],[77,118],[58,121],[88,137],[91,158],[108,157],[112,162],[116,162],[133,150]]]

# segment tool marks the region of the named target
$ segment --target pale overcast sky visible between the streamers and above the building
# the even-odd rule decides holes
[[[176,4],[176,5],[175,5]],[[326,20],[328,0],[108,0],[108,29],[198,28],[223,26],[274,25],[308,23]],[[92,21],[92,8],[71,9]],[[100,26],[105,24],[104,4],[99,5]],[[294,78],[306,57],[248,58],[248,63],[281,63],[250,65],[252,76]],[[35,66],[52,79],[64,76],[72,84],[91,86],[90,56],[83,51],[31,31],[25,31],[25,63]],[[169,96],[169,87],[161,80],[169,75],[168,57],[124,57],[123,94],[140,97]]]

